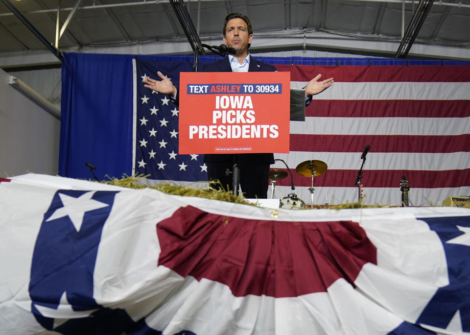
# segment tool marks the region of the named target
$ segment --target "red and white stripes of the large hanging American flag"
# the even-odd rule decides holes
[[[313,159],[328,165],[313,178],[314,204],[357,201],[354,180],[366,145],[366,204],[400,205],[402,175],[414,206],[470,194],[470,67],[276,67],[291,72],[292,88],[304,87],[318,73],[320,80],[333,77],[334,84],[313,97],[305,122],[291,122],[290,153],[275,158],[292,169],[296,190],[287,177],[277,181],[275,197],[295,192],[310,203],[312,178],[294,170]],[[272,168],[285,166],[277,162]]]

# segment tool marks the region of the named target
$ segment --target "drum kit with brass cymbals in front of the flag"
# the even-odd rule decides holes
[[[310,205],[313,206],[313,177],[317,177],[328,169],[328,165],[325,162],[317,161],[317,160],[308,160],[305,162],[300,163],[296,168],[295,171],[297,174],[303,177],[309,177],[312,180],[311,187],[308,188],[310,191]],[[292,174],[291,174],[292,175]],[[271,179],[271,199],[274,197],[274,189],[276,188],[276,180],[284,179],[287,177],[287,172],[279,169],[273,169],[269,171],[269,179]],[[292,185],[293,186],[293,185]],[[291,206],[290,209],[293,208],[302,208],[305,207],[305,202],[301,198],[297,196],[295,193],[287,194],[280,199],[279,207],[284,205],[283,201],[286,200],[286,205]],[[291,203],[292,201],[292,203]]]

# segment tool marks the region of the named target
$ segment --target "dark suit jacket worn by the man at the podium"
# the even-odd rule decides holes
[[[207,64],[202,69],[203,72],[232,72],[230,66],[229,56],[221,58],[213,63]],[[250,67],[248,72],[274,72],[276,68],[272,65],[262,63],[252,56],[250,56]],[[231,163],[233,154],[206,154],[204,155],[204,162],[229,162]],[[240,164],[246,163],[268,163],[274,164],[274,155],[272,153],[258,153],[258,154],[239,154]]]

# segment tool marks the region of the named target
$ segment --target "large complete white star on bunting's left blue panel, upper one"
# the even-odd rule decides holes
[[[85,215],[86,212],[109,206],[108,204],[92,199],[93,194],[94,191],[90,191],[75,198],[67,194],[59,193],[60,200],[64,207],[56,209],[46,222],[68,215],[75,230],[77,232],[80,231],[83,223],[83,215]]]

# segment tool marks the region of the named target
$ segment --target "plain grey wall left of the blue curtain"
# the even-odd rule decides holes
[[[56,174],[59,135],[60,120],[10,86],[0,69],[0,177]]]

